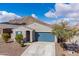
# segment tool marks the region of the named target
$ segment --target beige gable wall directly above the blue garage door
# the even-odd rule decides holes
[[[31,25],[28,25],[28,27],[31,27],[36,32],[51,32],[52,31],[52,28],[39,24],[39,23],[33,23]]]

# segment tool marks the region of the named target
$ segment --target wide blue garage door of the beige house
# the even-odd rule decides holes
[[[35,38],[37,41],[53,42],[55,36],[49,32],[36,32]]]

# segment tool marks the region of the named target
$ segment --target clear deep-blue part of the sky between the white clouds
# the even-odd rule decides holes
[[[15,13],[19,16],[31,16],[34,14],[38,19],[51,22],[52,18],[45,17],[45,13],[55,9],[53,3],[0,3],[0,11]]]

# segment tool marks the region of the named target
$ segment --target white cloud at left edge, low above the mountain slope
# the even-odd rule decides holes
[[[9,20],[20,19],[20,18],[22,17],[19,15],[16,15],[15,13],[0,11],[0,22],[7,22]]]

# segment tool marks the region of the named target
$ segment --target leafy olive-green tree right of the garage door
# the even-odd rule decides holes
[[[60,22],[53,25],[52,33],[56,35],[58,43],[66,42],[72,38],[78,31],[75,27],[67,28],[67,22]]]

